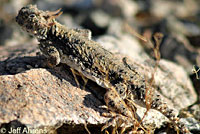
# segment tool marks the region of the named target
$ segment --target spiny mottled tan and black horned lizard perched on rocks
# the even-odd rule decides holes
[[[58,23],[55,18],[61,14],[60,9],[50,12],[28,5],[19,11],[16,21],[38,39],[39,48],[47,57],[49,66],[67,64],[76,81],[76,74],[79,74],[85,83],[90,79],[106,88],[104,99],[110,111],[126,117],[133,116],[129,100],[145,107],[144,77],[129,67],[125,59],[115,58],[113,53],[91,40],[89,30],[69,29]],[[188,132],[159,95],[154,94],[152,98],[151,109],[161,112],[183,133]]]

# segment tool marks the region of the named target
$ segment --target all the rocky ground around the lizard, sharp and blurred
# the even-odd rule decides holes
[[[200,2],[198,0],[3,0],[0,4],[0,133],[101,133],[109,120],[105,89],[89,81],[77,87],[66,65],[50,69],[37,40],[15,22],[27,4],[54,11],[62,8],[58,21],[71,28],[87,28],[93,39],[130,64],[147,80],[155,68],[149,43],[136,37],[164,35],[155,88],[167,104],[177,109],[191,133],[200,133]],[[129,26],[128,26],[128,25]],[[136,32],[137,31],[137,32]],[[199,78],[198,78],[199,77]],[[80,78],[80,83],[83,81]],[[140,117],[145,112],[138,107]],[[170,122],[150,110],[143,124],[155,134],[176,133]],[[104,132],[102,132],[104,133]]]

